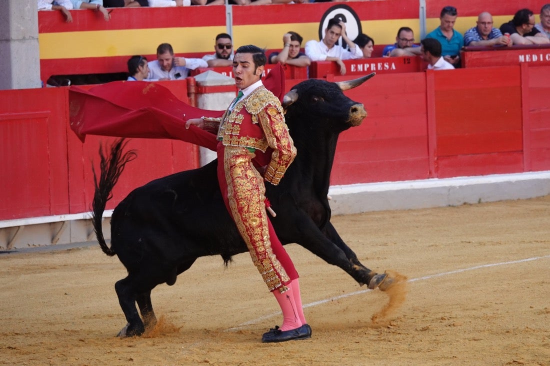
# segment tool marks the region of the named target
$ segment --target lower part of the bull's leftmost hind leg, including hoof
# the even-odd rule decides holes
[[[141,321],[136,308],[136,301],[138,295],[131,284],[130,277],[124,278],[114,285],[114,289],[117,291],[118,303],[124,312],[124,316],[128,321],[128,324],[120,330],[119,337],[133,337],[142,335],[145,331],[145,326]]]

